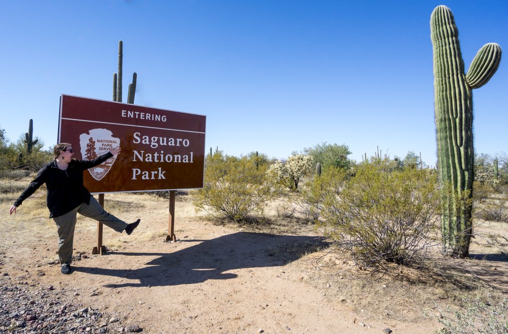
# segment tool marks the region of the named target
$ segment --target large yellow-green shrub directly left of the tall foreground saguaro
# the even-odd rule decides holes
[[[419,258],[439,219],[436,176],[417,169],[390,173],[386,166],[385,160],[358,166],[339,193],[326,196],[318,224],[366,270]]]

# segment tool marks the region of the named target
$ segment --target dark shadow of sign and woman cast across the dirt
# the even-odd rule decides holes
[[[106,285],[112,288],[194,284],[207,280],[235,278],[236,274],[227,273],[235,269],[284,265],[328,245],[318,237],[248,232],[237,232],[211,240],[189,240],[189,242],[199,244],[174,253],[108,253],[109,256],[158,256],[139,269],[75,266],[74,270],[87,274],[139,280],[139,283]]]

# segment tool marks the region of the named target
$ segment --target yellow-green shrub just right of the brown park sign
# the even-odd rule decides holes
[[[205,162],[205,186],[193,191],[197,209],[217,219],[247,220],[252,213],[262,214],[271,198],[265,182],[265,166],[256,169],[247,157],[224,156],[216,152]]]

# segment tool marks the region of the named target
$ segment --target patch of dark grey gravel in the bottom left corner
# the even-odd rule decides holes
[[[53,286],[37,287],[0,277],[0,333],[118,333],[141,332],[138,325],[99,309],[83,307],[72,293]]]

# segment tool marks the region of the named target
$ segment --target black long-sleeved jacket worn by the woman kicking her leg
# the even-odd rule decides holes
[[[32,181],[18,199],[16,199],[14,205],[19,207],[26,198],[33,194],[44,183],[46,183],[46,187],[48,188],[47,206],[50,212],[50,218],[66,214],[83,202],[90,204],[90,192],[83,185],[83,171],[103,163],[112,156],[113,154],[107,152],[93,160],[72,159],[71,162],[69,162],[67,171],[60,170],[55,160],[46,163],[39,173],[37,173],[34,181]],[[66,201],[64,201],[63,196],[66,188],[72,189],[71,193],[77,196],[77,198],[72,198],[72,201],[68,201],[66,198]],[[69,194],[69,191],[66,193]],[[65,205],[62,205],[63,203],[69,202],[75,202],[77,204],[72,208],[67,208]]]

